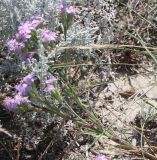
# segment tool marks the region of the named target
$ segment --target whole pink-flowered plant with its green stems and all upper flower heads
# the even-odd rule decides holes
[[[68,6],[65,1],[60,5],[60,18],[65,41],[67,31],[77,13],[79,11]],[[32,68],[27,68],[28,65],[26,65],[25,71],[30,74],[22,78],[20,83],[14,87],[15,93],[11,97],[4,99],[4,106],[11,111],[33,108],[36,111],[58,115],[65,120],[72,119],[77,124],[86,126],[90,131],[102,132],[101,122],[93,113],[88,111],[87,106],[81,102],[70,84],[67,69],[53,70],[53,67],[49,66],[45,52],[55,48],[52,43],[56,43],[57,37],[59,35],[56,32],[48,30],[45,19],[34,16],[18,27],[14,39],[7,41],[6,46],[9,51],[20,60],[28,61],[26,64],[30,64]],[[67,53],[65,51],[65,60],[67,60]],[[33,68],[34,66],[36,68]],[[52,76],[53,73],[57,74],[58,77]],[[37,82],[38,80],[39,82]],[[80,107],[80,110],[88,115],[89,120],[86,121],[82,118],[79,115],[80,112],[71,106],[72,104]]]

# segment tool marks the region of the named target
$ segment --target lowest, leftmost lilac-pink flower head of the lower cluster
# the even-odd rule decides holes
[[[6,97],[4,99],[4,107],[10,111],[15,110],[17,108],[17,102],[15,101],[15,99],[10,98],[10,97]]]

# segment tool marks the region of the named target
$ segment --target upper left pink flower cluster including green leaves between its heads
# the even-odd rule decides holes
[[[6,46],[22,61],[31,59],[38,49],[38,39],[44,44],[52,43],[57,39],[55,32],[46,28],[46,21],[40,16],[33,16],[18,27],[14,39],[8,40]]]

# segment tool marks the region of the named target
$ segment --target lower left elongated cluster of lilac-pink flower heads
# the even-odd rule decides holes
[[[15,110],[18,105],[30,103],[27,95],[31,91],[31,85],[34,81],[33,75],[29,74],[23,78],[23,80],[15,86],[16,94],[13,98],[6,97],[4,99],[4,106],[9,111]]]

